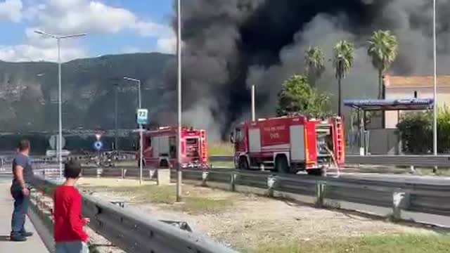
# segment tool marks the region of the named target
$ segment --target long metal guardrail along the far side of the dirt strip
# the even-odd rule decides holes
[[[84,176],[136,178],[138,169],[84,169]],[[146,179],[153,179],[155,169],[144,169]],[[172,171],[172,179],[176,174]],[[400,219],[399,210],[450,216],[450,185],[317,177],[293,174],[269,174],[262,171],[217,169],[210,171],[183,170],[183,179],[208,183],[221,183],[229,190],[240,186],[258,188],[271,195],[304,195],[315,198],[316,205],[324,200],[353,202],[375,207],[392,208]]]

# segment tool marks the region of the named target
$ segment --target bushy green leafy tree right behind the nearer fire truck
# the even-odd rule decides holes
[[[278,93],[278,116],[301,114],[323,118],[330,115],[330,96],[319,93],[308,83],[307,77],[294,75],[283,83]]]

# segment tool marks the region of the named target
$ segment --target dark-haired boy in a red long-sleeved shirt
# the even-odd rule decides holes
[[[75,188],[81,173],[81,165],[75,160],[65,164],[65,182],[54,195],[54,238],[56,253],[89,253],[89,235],[83,226],[89,219],[82,218],[82,195]]]

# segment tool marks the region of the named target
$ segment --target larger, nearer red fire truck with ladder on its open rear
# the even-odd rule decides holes
[[[240,124],[231,133],[237,169],[274,169],[281,173],[306,170],[326,174],[330,165],[345,162],[342,119],[276,117]]]

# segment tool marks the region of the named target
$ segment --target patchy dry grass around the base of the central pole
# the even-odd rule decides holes
[[[215,214],[233,207],[231,198],[213,199],[195,193],[195,190],[184,192],[183,202],[175,204],[175,186],[126,186],[108,188],[114,193],[133,196],[134,202],[167,204],[172,209],[189,214]]]

